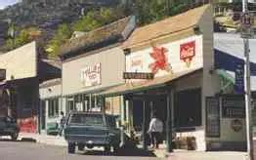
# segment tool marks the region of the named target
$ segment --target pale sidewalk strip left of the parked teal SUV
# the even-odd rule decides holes
[[[60,145],[66,146],[67,143],[64,140],[64,137],[55,137],[47,135],[38,135],[38,134],[29,134],[29,133],[20,133],[18,140],[35,140],[39,143],[49,144],[49,145]]]

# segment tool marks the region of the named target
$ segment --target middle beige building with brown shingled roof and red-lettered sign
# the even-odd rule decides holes
[[[124,83],[125,58],[120,45],[134,28],[135,18],[128,17],[64,44],[62,96],[66,113],[104,108],[107,113],[119,114],[120,97],[103,100],[95,94]]]

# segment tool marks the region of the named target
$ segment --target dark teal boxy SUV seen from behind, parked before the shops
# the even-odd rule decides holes
[[[72,112],[68,115],[64,128],[64,139],[68,142],[68,153],[74,153],[75,147],[104,146],[109,152],[116,151],[120,143],[120,131],[116,128],[116,117],[101,112]]]

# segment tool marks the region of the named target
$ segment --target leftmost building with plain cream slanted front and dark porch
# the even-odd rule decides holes
[[[60,70],[39,59],[36,42],[0,55],[0,114],[17,119],[21,132],[39,131],[39,83]]]

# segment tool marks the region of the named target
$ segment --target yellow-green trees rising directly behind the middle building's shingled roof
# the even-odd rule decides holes
[[[123,13],[118,9],[101,8],[100,10],[89,11],[80,20],[75,21],[71,25],[61,24],[50,43],[46,46],[48,58],[55,59],[60,54],[60,47],[70,39],[72,31],[88,32],[103,26],[113,20],[123,17]]]

